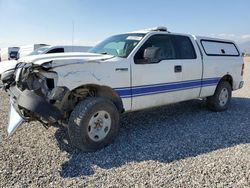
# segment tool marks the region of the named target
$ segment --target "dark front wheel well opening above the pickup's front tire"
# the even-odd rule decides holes
[[[124,111],[120,96],[108,86],[89,84],[75,88],[72,93],[78,95],[77,97],[81,99],[89,96],[107,98],[115,104],[120,113]]]

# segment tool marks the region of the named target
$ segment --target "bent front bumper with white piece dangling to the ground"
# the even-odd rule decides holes
[[[12,135],[25,119],[31,118],[47,123],[55,123],[63,119],[63,114],[58,108],[47,102],[45,98],[37,95],[34,91],[21,91],[16,86],[12,86],[9,88],[9,93],[11,97],[9,125],[7,128],[9,135]],[[25,117],[22,111],[27,112],[26,114],[32,117]]]

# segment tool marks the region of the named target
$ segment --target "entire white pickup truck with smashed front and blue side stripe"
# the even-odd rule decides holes
[[[226,110],[243,86],[244,63],[233,41],[157,27],[112,36],[88,53],[30,56],[0,70],[10,135],[25,121],[62,124],[74,146],[95,151],[114,140],[123,112],[196,98]]]

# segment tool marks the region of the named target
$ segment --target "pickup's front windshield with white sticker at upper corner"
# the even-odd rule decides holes
[[[139,33],[115,35],[97,44],[89,52],[126,58],[144,36]]]

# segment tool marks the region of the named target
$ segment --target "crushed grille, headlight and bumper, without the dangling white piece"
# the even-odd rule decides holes
[[[56,87],[57,73],[32,64],[18,65],[15,82],[10,86],[17,110],[29,120],[48,125],[63,119],[60,104],[66,90]],[[58,94],[60,93],[60,94]],[[63,93],[63,94],[62,94]]]

